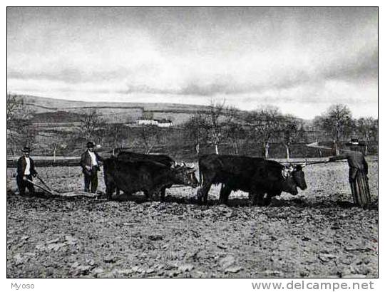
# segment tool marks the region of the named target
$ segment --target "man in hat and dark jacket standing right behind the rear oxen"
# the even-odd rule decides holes
[[[98,188],[98,171],[100,165],[102,165],[102,158],[94,151],[95,143],[92,141],[87,142],[87,150],[81,155],[81,168],[84,174],[84,192],[96,193]]]

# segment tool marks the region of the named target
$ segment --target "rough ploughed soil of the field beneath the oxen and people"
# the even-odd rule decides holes
[[[20,197],[7,173],[8,277],[377,277],[378,162],[369,162],[370,209],[352,206],[346,162],[304,169],[308,189],[269,207],[195,204],[197,189],[120,201]],[[41,167],[59,192],[81,192],[79,167]],[[102,173],[99,189],[104,192]]]

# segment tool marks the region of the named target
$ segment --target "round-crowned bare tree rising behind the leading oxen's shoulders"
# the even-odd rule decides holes
[[[269,147],[272,139],[279,134],[279,108],[267,106],[252,111],[247,115],[246,121],[252,127],[252,137],[262,142],[265,158],[269,158]]]

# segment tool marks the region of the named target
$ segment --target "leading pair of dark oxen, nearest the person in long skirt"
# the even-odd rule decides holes
[[[197,199],[207,203],[212,184],[222,183],[220,201],[226,203],[232,191],[249,193],[250,204],[270,204],[272,197],[288,192],[296,195],[297,187],[307,188],[301,165],[285,167],[279,162],[257,157],[203,155],[199,159],[200,189]],[[266,194],[266,197],[265,197]]]

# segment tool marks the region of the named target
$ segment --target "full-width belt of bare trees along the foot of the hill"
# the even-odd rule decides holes
[[[241,149],[249,144],[260,148],[258,155],[266,158],[271,156],[271,145],[279,144],[289,158],[293,145],[314,142],[312,139],[332,142],[336,154],[342,142],[351,137],[364,141],[366,154],[378,141],[378,120],[371,117],[354,119],[347,105],[342,104],[331,105],[325,113],[305,122],[294,115],[283,114],[274,106],[243,111],[227,106],[224,100],[222,103],[210,102],[207,110],[197,111],[183,125],[165,129],[156,125],[130,127],[107,123],[97,109],[90,109],[81,113],[71,129],[53,127],[39,132],[30,122],[33,115],[23,100],[7,94],[7,150],[10,154],[16,155],[24,145],[36,145],[43,155],[71,156],[82,149],[87,140],[94,140],[106,148],[126,147],[145,153],[173,145],[191,147],[195,155],[202,153],[202,147],[210,147],[212,152],[220,154],[223,145],[235,155],[247,155]],[[309,129],[316,135],[310,135]]]

